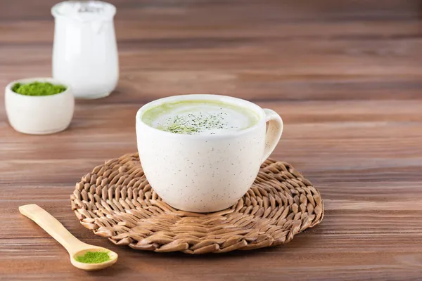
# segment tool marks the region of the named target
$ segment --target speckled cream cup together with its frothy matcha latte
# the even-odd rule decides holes
[[[139,159],[167,204],[209,213],[233,206],[279,143],[281,117],[248,100],[171,96],[136,113]]]

